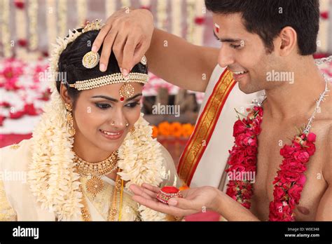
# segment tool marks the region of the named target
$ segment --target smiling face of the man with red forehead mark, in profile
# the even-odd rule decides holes
[[[260,36],[247,31],[241,15],[213,14],[213,19],[214,34],[221,41],[219,65],[233,72],[240,90],[249,94],[276,86],[266,81],[269,70],[279,69],[275,52],[268,53]]]

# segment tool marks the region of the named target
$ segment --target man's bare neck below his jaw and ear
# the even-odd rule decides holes
[[[291,66],[293,81],[265,90],[265,113],[273,118],[288,119],[312,114],[315,100],[323,92],[324,78],[313,57],[303,57]]]

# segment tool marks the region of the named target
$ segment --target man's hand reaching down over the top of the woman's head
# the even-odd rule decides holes
[[[123,8],[113,13],[92,44],[94,52],[103,46],[99,69],[106,70],[113,50],[126,76],[148,50],[153,29],[153,15],[146,9]]]

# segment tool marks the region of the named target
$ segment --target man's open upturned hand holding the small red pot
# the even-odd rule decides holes
[[[165,204],[156,199],[159,191],[158,187],[153,187],[150,184],[142,184],[139,187],[132,184],[130,189],[134,193],[132,197],[134,201],[155,211],[176,217],[192,215],[205,210],[216,210],[218,208],[216,198],[219,194],[222,194],[214,187],[192,188],[181,191],[184,198],[171,198],[168,204]]]

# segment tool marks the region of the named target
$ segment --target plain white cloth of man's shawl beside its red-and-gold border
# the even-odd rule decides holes
[[[200,114],[224,70],[225,68],[221,68],[219,65],[214,69],[205,92]],[[235,121],[237,121],[237,114],[234,109],[237,109],[237,111],[245,111],[247,107],[250,107],[253,99],[261,98],[262,95],[263,91],[249,95],[242,93],[238,83],[235,84],[223,106],[219,120],[212,133],[211,140],[209,144],[207,144],[207,148],[195,170],[191,187],[219,187],[223,172],[226,169],[229,156],[228,150],[230,150],[234,144],[233,125]],[[221,187],[221,190],[222,189],[223,186]]]

